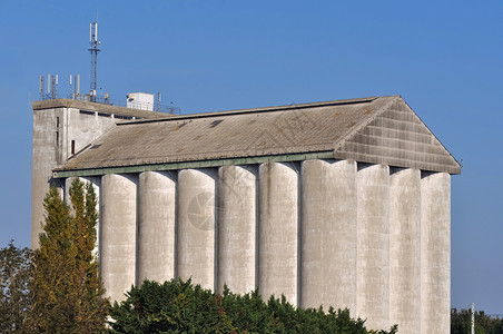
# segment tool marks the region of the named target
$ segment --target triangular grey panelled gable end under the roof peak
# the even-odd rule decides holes
[[[338,159],[460,174],[461,166],[402,98],[381,110],[368,106],[369,121],[339,143]]]

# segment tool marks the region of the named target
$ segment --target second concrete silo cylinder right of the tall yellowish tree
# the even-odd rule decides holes
[[[144,171],[138,180],[138,278],[175,277],[175,180]]]

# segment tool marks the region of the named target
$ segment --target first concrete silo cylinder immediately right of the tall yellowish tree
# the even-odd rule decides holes
[[[111,301],[122,301],[136,284],[136,176],[101,178],[100,268]]]

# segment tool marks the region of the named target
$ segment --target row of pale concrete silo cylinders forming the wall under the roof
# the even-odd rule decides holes
[[[264,298],[348,307],[368,328],[445,333],[450,186],[448,174],[328,159],[105,175],[107,295],[191,277],[218,292],[258,286]]]

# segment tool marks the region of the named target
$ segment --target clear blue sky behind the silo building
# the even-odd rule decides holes
[[[503,314],[502,1],[0,0],[0,247],[30,244],[39,76],[162,92],[184,114],[402,95],[464,166],[452,178],[452,306]]]

